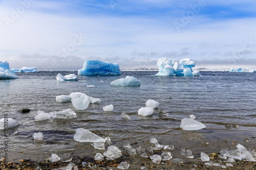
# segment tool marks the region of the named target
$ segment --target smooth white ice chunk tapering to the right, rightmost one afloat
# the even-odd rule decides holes
[[[181,119],[180,127],[186,131],[193,131],[193,130],[203,129],[206,126],[204,126],[204,124],[198,122],[197,120],[194,120],[191,118],[183,118]]]

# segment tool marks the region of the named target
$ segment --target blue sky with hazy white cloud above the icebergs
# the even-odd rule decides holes
[[[0,61],[78,70],[86,59],[256,69],[256,1],[0,0]]]

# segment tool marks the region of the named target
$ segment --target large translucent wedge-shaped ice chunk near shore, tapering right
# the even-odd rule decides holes
[[[83,128],[76,129],[74,139],[79,142],[105,142],[106,139],[99,137],[91,131]]]

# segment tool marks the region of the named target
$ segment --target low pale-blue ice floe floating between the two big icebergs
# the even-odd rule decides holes
[[[125,79],[117,79],[110,83],[112,86],[139,86],[140,81],[135,77],[126,76]]]

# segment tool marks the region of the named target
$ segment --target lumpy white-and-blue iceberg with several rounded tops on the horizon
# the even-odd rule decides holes
[[[192,67],[195,67],[195,61],[185,58],[180,62],[173,61],[168,58],[160,58],[157,61],[159,68],[157,76],[199,76],[198,70],[193,71]]]

